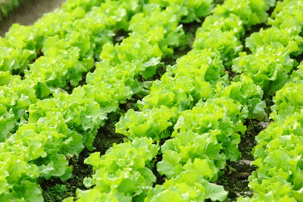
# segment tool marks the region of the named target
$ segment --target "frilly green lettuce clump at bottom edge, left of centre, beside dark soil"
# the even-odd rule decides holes
[[[146,168],[158,154],[159,145],[146,137],[132,142],[114,144],[106,154],[91,154],[84,162],[93,167],[92,177],[84,179],[86,187],[77,190],[77,201],[132,201],[144,198],[145,192],[156,182],[156,177]],[[69,201],[71,199],[66,199]]]

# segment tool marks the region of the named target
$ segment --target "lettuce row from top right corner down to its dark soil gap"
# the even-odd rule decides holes
[[[251,52],[240,53],[233,60],[232,70],[243,73],[268,94],[281,89],[289,80],[297,61],[291,59],[303,51],[303,2],[287,0],[278,2],[267,24],[270,28],[252,33],[245,39]]]

